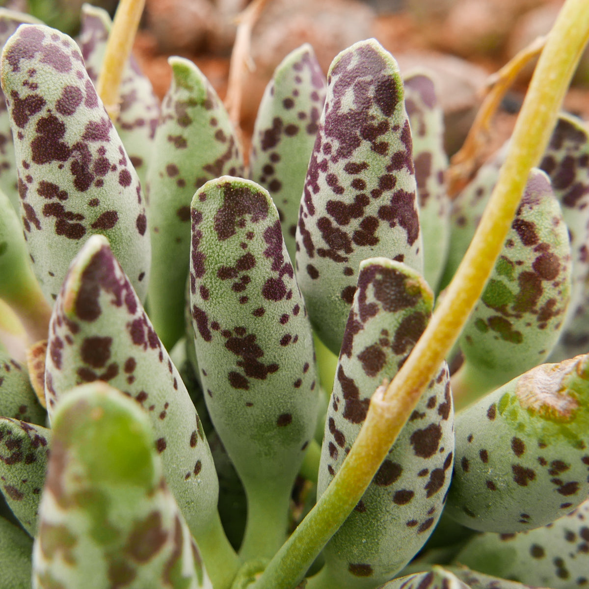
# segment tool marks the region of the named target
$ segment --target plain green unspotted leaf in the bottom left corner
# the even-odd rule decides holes
[[[32,544],[26,532],[0,517],[1,589],[31,588]]]

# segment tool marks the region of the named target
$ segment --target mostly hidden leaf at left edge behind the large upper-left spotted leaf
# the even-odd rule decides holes
[[[8,41],[8,38],[22,23],[41,25],[42,22],[24,12],[15,12],[6,8],[0,8],[0,51]],[[10,115],[4,98],[4,92],[0,88],[0,190],[6,193],[14,209],[18,211],[18,180],[16,177],[16,160],[14,144],[12,143],[12,131],[10,128]]]

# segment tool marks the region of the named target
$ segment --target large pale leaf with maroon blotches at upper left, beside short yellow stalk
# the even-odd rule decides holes
[[[84,68],[78,46],[22,25],[2,53],[22,223],[33,269],[55,299],[91,234],[105,234],[143,298],[150,241],[141,187]]]

